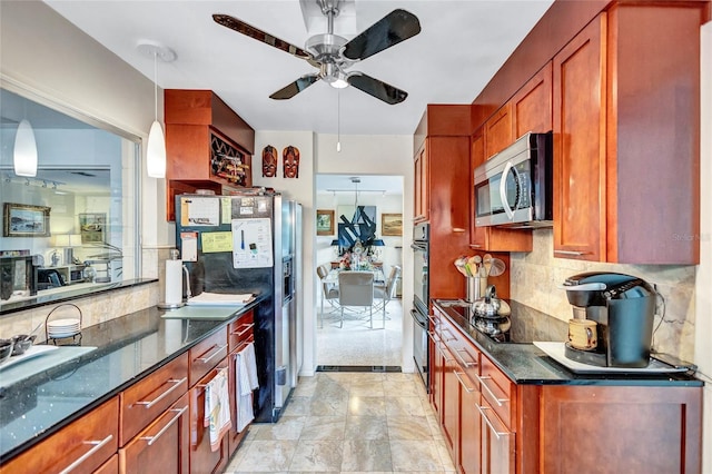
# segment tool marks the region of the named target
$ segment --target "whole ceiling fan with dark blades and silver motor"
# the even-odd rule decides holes
[[[316,0],[328,21],[328,32],[310,37],[305,49],[280,40],[229,14],[214,14],[212,19],[226,28],[243,33],[281,51],[288,52],[319,71],[301,76],[299,79],[279,89],[271,99],[290,99],[319,79],[324,79],[335,88],[354,86],[356,89],[383,100],[386,103],[400,103],[408,93],[382,80],[359,71],[347,71],[354,63],[374,56],[407,40],[421,32],[421,22],[413,13],[396,9],[376,21],[356,38],[334,34],[334,18],[338,16],[342,0]]]

